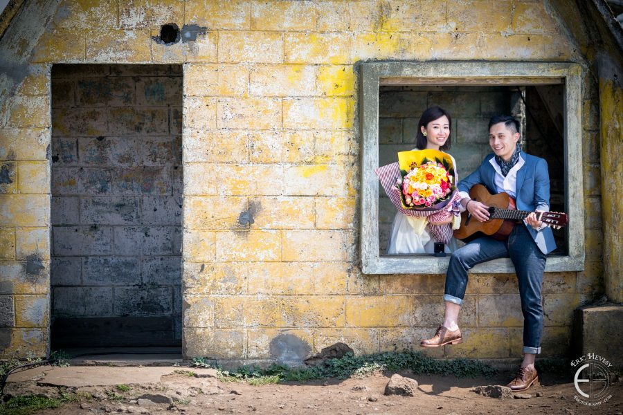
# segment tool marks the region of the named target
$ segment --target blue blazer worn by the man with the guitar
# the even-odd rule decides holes
[[[521,169],[517,172],[516,183],[516,205],[518,210],[550,210],[550,174],[548,173],[548,162],[536,156],[530,156],[521,151],[521,158],[525,160]],[[496,194],[495,175],[496,170],[489,160],[494,158],[495,154],[491,153],[475,172],[459,182],[458,188],[461,192],[469,192],[473,185],[480,183],[487,187],[489,193]],[[532,239],[539,247],[541,252],[548,254],[556,249],[554,242],[554,234],[549,226],[543,230],[536,231],[524,223],[528,232],[532,235]]]

